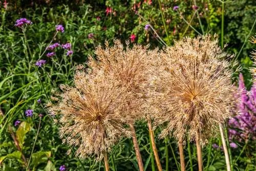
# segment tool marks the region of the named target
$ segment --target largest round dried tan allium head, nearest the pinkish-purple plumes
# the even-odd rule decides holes
[[[218,40],[210,35],[183,38],[160,52],[157,69],[150,76],[149,106],[156,124],[167,122],[161,138],[187,134],[203,145],[228,118],[233,101],[230,63],[222,58]],[[201,136],[199,136],[199,134]]]

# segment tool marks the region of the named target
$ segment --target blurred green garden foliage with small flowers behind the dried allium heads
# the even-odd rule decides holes
[[[51,91],[59,84],[72,86],[74,67],[94,57],[95,47],[105,40],[162,49],[182,37],[207,33],[218,34],[224,51],[236,54],[229,60],[238,61],[242,70],[233,74],[233,83],[254,92],[243,103],[244,120],[234,114],[225,133],[232,170],[256,170],[256,85],[250,72],[255,0],[1,0],[0,11],[0,170],[104,170],[93,157],[66,154],[69,146],[62,144],[55,116],[45,108]],[[19,18],[32,24],[20,29],[14,26]],[[65,31],[56,32],[57,25]],[[57,43],[52,49],[51,41]],[[157,170],[147,123],[138,121],[135,127],[144,169]],[[159,127],[155,136],[160,132]],[[156,138],[156,145],[163,170],[180,170],[177,142]],[[202,151],[204,170],[226,170],[220,138],[212,138]],[[186,170],[197,170],[196,152],[195,143],[187,142]],[[111,170],[139,170],[132,139],[113,147],[109,163]]]

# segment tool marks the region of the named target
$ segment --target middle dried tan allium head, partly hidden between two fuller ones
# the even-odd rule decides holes
[[[105,49],[101,46],[96,48],[95,54],[98,60],[90,57],[88,66],[91,68],[92,75],[102,71],[106,77],[111,76],[116,79],[120,87],[126,89],[126,92],[132,93],[128,99],[128,106],[132,110],[127,110],[127,118],[139,119],[143,117],[140,108],[144,98],[144,90],[142,88],[145,82],[146,70],[148,68],[148,60],[156,54],[156,51],[149,51],[148,46],[134,45],[129,48],[129,42],[124,49],[120,40],[114,40],[114,46],[109,47],[108,41],[105,42]]]

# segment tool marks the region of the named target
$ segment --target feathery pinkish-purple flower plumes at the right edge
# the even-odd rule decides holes
[[[237,139],[248,141],[249,138],[256,139],[256,83],[247,91],[243,75],[239,75],[239,94],[235,96],[241,101],[237,104],[239,115],[229,119],[229,140]],[[231,143],[230,143],[231,146]]]

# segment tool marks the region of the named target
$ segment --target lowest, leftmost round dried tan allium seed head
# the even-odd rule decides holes
[[[77,72],[75,87],[60,86],[63,93],[58,94],[58,103],[49,105],[51,114],[60,114],[60,138],[78,146],[80,158],[95,155],[100,160],[115,142],[130,135],[121,117],[129,94],[117,85],[100,74],[91,78]]]

